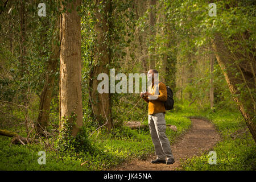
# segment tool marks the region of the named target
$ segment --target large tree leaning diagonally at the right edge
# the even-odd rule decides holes
[[[242,38],[241,38],[242,36]],[[240,37],[233,39],[246,39],[245,33]],[[253,135],[256,142],[256,124],[255,124],[255,72],[256,64],[254,56],[250,53],[241,55],[239,51],[233,53],[230,51],[230,45],[221,35],[216,34],[213,40],[213,49],[218,64],[228,83],[230,92],[237,102],[238,108],[245,118],[247,127]],[[233,45],[234,46],[234,45]],[[237,46],[237,45],[236,45]],[[241,47],[239,47],[241,48]],[[236,47],[238,50],[238,48]],[[238,77],[237,75],[240,75]]]

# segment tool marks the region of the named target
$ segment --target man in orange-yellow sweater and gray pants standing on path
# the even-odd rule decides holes
[[[155,80],[158,79],[155,78],[155,75],[158,77],[158,71],[155,69],[150,69],[147,72],[147,78],[152,80],[152,83],[148,87],[148,92],[141,93],[143,100],[148,103],[148,126],[150,127],[150,134],[157,156],[156,160],[152,160],[151,163],[173,164],[174,156],[172,155],[170,142],[166,137],[166,120],[164,119],[166,114],[164,101],[167,100],[166,85],[163,82],[155,85],[155,82],[158,83],[158,80]]]

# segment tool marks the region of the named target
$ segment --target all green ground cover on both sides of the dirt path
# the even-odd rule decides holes
[[[187,117],[204,117],[216,126],[221,141],[211,150],[217,153],[217,164],[208,163],[208,152],[181,163],[183,170],[255,170],[255,143],[245,122],[237,111],[198,110],[187,104],[176,105],[175,110],[166,114],[167,124],[177,126],[177,131],[167,127],[166,134],[171,143],[191,127]],[[147,120],[143,121],[147,124]],[[8,128],[22,131],[24,128]],[[237,133],[236,133],[237,132]],[[232,138],[236,136],[236,138]],[[54,140],[54,139],[53,139]],[[154,154],[154,146],[148,127],[131,130],[128,127],[114,129],[111,133],[98,130],[90,137],[92,151],[69,152],[60,155],[46,150],[41,144],[14,145],[11,138],[0,136],[0,170],[105,170],[116,167],[131,159],[146,159]],[[46,151],[46,165],[38,164],[39,151]],[[81,163],[86,162],[81,166]]]

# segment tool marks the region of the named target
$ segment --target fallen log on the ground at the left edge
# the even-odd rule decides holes
[[[34,138],[24,138],[21,137],[18,133],[15,133],[13,131],[8,131],[8,130],[1,130],[0,129],[0,135],[5,136],[5,137],[13,137],[11,140],[11,143],[13,144],[27,144],[27,143],[36,143],[39,142],[38,139]]]

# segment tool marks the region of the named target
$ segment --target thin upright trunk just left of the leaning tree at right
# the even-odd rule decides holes
[[[213,65],[214,65],[214,54],[212,52],[212,43],[210,41],[210,109],[214,107],[214,87],[213,87]]]

